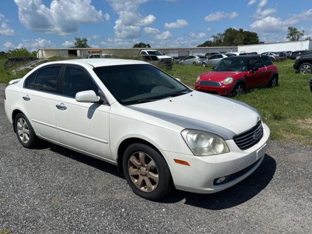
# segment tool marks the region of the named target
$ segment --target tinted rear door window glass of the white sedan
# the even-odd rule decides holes
[[[60,66],[43,68],[38,71],[35,89],[44,92],[56,93]]]

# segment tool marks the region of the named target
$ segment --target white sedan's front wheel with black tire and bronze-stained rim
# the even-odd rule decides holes
[[[158,200],[174,187],[165,159],[145,144],[128,146],[123,154],[122,169],[133,192],[145,199]]]

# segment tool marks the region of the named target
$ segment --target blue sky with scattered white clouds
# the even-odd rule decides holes
[[[101,48],[187,47],[229,27],[272,42],[288,26],[312,37],[311,0],[1,0],[0,50],[70,47],[75,37]]]

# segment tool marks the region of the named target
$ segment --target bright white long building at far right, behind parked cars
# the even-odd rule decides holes
[[[239,45],[238,52],[279,52],[279,51],[296,51],[296,50],[312,50],[312,40],[299,41],[283,41],[254,45]]]

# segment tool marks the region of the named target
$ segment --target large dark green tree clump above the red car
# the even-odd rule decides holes
[[[197,47],[207,46],[238,46],[263,43],[259,41],[256,33],[245,31],[243,29],[228,28],[224,33],[218,33],[212,36],[212,40],[207,40]]]

